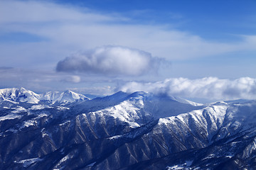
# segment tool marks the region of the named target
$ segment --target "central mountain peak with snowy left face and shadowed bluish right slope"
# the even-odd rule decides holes
[[[101,104],[98,103],[99,101]],[[110,101],[113,103],[110,103]],[[178,115],[202,107],[200,104],[198,106],[193,102],[190,103],[181,99],[179,101],[174,97],[160,97],[142,91],[134,92],[133,94],[119,91],[112,96],[95,98],[87,104],[89,104],[89,107],[97,106],[97,111],[88,113],[91,116],[94,115],[93,117],[100,115],[100,117],[119,120],[128,123],[132,128],[137,128],[149,122],[149,120]],[[100,105],[102,104],[105,107],[101,108]],[[86,103],[82,103],[76,107],[82,108],[85,106],[87,106]],[[88,109],[85,108],[83,111],[88,111]]]

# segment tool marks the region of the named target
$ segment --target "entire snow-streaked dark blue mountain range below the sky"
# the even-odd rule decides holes
[[[256,101],[60,94],[0,102],[0,169],[256,169]]]

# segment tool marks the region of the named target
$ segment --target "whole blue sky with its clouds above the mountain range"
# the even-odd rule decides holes
[[[0,1],[0,88],[103,95],[137,91],[127,87],[132,82],[170,87],[183,77],[215,91],[243,91],[225,96],[223,90],[216,99],[252,98],[255,8],[249,0]],[[207,97],[189,88],[173,94]]]

